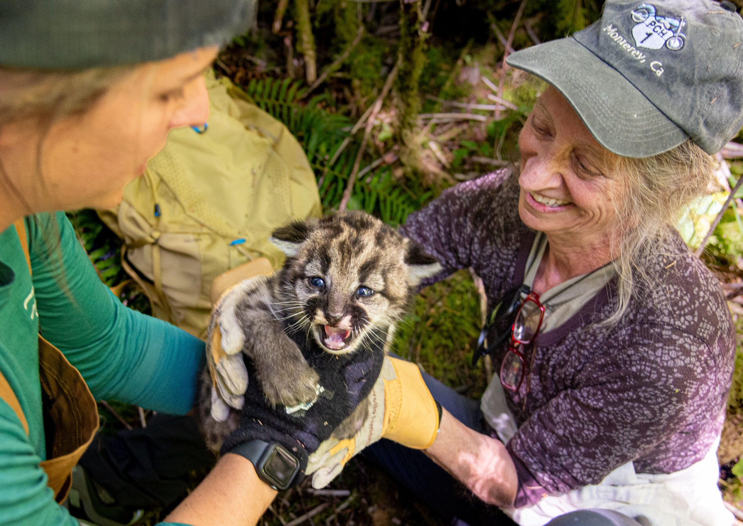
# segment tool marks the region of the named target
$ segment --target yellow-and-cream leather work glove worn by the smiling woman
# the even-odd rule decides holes
[[[312,487],[332,481],[354,455],[380,438],[412,449],[431,447],[438,434],[441,406],[433,399],[415,363],[385,357],[369,393],[369,416],[353,438],[328,438],[309,456]]]

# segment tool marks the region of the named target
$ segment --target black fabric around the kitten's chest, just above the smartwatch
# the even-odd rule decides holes
[[[267,402],[258,380],[248,382],[242,421],[238,429],[225,438],[221,454],[256,438],[282,444],[299,458],[301,471],[295,481],[299,482],[307,467],[308,455],[330,438],[333,429],[371,392],[382,369],[384,349],[383,342],[367,340],[357,351],[334,356],[323,351],[304,333],[291,338],[317,371],[325,391],[304,415],[288,415],[283,406],[273,407]],[[248,376],[256,378],[250,358],[245,358],[245,365]]]

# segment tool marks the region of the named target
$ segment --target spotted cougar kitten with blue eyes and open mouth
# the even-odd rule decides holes
[[[243,352],[256,371],[257,378],[249,381],[258,380],[276,406],[317,398],[323,371],[318,375],[308,365],[295,343],[297,333],[330,355],[348,357],[374,348],[381,354],[382,345],[370,343],[391,339],[417,285],[441,270],[421,245],[363,212],[294,222],[273,232],[270,241],[287,255],[286,262],[273,276],[253,279],[236,317],[245,337]],[[336,438],[356,434],[366,419],[366,402],[335,429]],[[207,446],[218,451],[239,423],[240,409],[227,412],[207,368],[198,406]]]

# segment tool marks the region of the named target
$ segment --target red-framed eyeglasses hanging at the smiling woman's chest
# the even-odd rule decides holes
[[[528,366],[523,351],[525,346],[531,345],[536,335],[539,334],[544,317],[545,306],[539,302],[539,294],[529,293],[511,325],[508,352],[501,364],[501,384],[505,389],[518,391],[527,376]]]

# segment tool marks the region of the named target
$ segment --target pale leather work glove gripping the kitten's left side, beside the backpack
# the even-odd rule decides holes
[[[247,290],[256,285],[257,276],[270,276],[273,268],[266,258],[253,259],[217,276],[212,282],[214,308],[210,321],[211,338],[207,342],[207,366],[212,377],[212,417],[224,421],[227,406],[242,409],[248,376],[242,358],[244,334],[235,308]],[[225,405],[226,404],[226,405]]]

